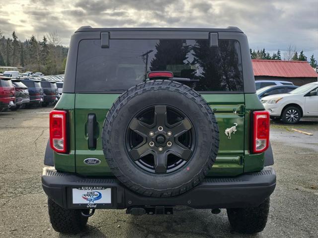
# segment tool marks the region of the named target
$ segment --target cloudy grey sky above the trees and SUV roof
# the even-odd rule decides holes
[[[318,59],[318,0],[0,0],[0,29],[21,40],[58,31],[62,43],[92,27],[227,27],[253,49],[294,45]]]

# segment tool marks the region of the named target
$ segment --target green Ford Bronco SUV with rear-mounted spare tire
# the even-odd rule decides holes
[[[269,115],[237,27],[91,28],[72,36],[42,185],[53,228],[95,209],[219,213],[264,229],[276,185]]]

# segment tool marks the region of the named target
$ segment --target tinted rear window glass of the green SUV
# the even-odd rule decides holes
[[[110,39],[79,43],[76,91],[125,91],[147,80],[150,71],[170,71],[196,91],[242,91],[239,42],[219,40]]]

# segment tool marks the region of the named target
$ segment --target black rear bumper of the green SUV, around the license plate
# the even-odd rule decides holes
[[[72,204],[72,187],[103,186],[112,189],[112,202],[97,209],[124,209],[144,206],[187,205],[193,208],[235,208],[258,206],[269,197],[276,186],[276,173],[265,167],[256,173],[237,177],[206,178],[191,190],[174,197],[147,197],[137,194],[114,177],[81,177],[57,172],[54,167],[42,171],[42,186],[45,193],[65,208]]]

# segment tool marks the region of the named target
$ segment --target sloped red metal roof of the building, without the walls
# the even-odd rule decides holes
[[[254,76],[318,77],[307,61],[252,60]]]

